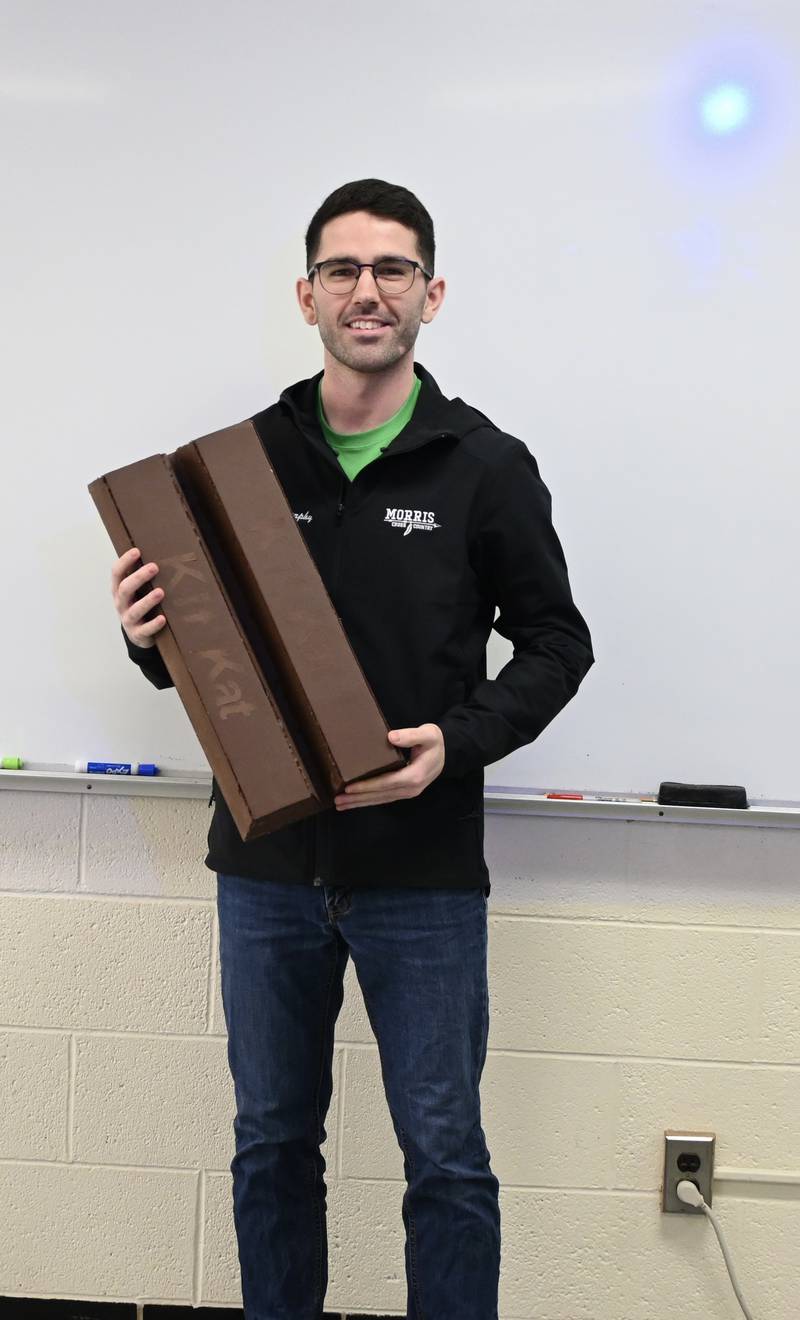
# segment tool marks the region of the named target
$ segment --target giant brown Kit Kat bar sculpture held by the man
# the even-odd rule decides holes
[[[252,422],[88,487],[158,565],[156,644],[243,840],[405,764]]]

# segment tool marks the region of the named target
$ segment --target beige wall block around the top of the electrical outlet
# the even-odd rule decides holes
[[[800,1170],[800,1071],[623,1063],[617,1187],[657,1189],[664,1131],[716,1133],[718,1166]]]

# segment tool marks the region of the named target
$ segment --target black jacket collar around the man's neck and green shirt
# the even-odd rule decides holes
[[[461,440],[470,430],[486,425],[486,418],[463,403],[462,399],[448,399],[442,395],[436,380],[420,362],[413,364],[415,374],[422,381],[415,411],[408,424],[389,446],[392,454],[411,449],[420,449],[433,440],[444,440],[451,436]],[[318,371],[309,380],[298,380],[283,391],[279,407],[288,413],[314,444],[322,440],[322,430],[317,417],[317,388],[323,372]],[[325,441],[322,441],[325,444]],[[327,445],[325,444],[327,450]]]

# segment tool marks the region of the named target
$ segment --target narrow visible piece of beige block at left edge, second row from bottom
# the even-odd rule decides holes
[[[69,1036],[0,1031],[0,1159],[65,1160]]]

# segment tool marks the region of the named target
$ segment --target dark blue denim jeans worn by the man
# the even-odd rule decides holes
[[[404,1156],[408,1320],[496,1320],[498,1180],[478,1096],[488,1031],[483,891],[218,875],[217,907],[246,1320],[322,1315],[319,1144],[350,954]]]

